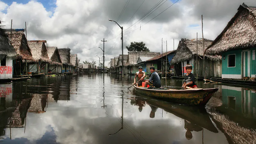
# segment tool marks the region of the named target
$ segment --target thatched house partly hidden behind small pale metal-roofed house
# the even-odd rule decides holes
[[[125,64],[125,72],[135,74],[140,65],[135,65],[139,57],[155,57],[160,52],[128,52],[127,62]]]

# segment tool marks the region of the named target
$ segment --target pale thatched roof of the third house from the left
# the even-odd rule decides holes
[[[47,63],[52,62],[52,60],[50,60],[48,57],[47,49],[44,42],[28,41],[28,46],[31,49],[32,57],[36,61],[41,60],[42,62],[47,62]]]

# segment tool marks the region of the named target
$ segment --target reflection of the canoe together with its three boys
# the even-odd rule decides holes
[[[134,92],[136,92],[134,90]],[[149,117],[154,118],[156,110],[158,108],[163,109],[166,112],[172,113],[184,119],[184,128],[186,129],[185,137],[190,140],[192,139],[192,131],[202,131],[207,129],[211,132],[218,133],[217,128],[213,125],[209,114],[206,112],[205,108],[179,105],[171,102],[166,102],[162,100],[157,100],[142,94],[137,94],[139,97],[128,98],[131,100],[132,105],[137,105],[139,111],[141,112],[145,105],[149,105],[151,108]]]

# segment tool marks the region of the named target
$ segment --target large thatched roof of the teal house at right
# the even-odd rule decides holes
[[[256,46],[256,7],[242,4],[206,54],[219,54],[232,49]]]

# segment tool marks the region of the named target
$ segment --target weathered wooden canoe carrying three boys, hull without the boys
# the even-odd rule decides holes
[[[218,88],[187,90],[154,90],[133,85],[137,92],[147,96],[170,99],[172,102],[187,105],[205,106]]]

